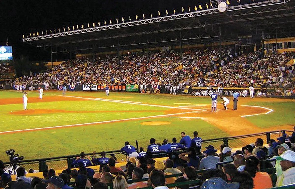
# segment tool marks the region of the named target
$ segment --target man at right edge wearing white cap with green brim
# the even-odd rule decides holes
[[[287,150],[276,158],[280,161],[283,174],[278,177],[276,187],[295,183],[295,152]]]

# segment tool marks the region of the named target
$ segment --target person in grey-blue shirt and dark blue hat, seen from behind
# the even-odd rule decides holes
[[[217,150],[213,148],[209,148],[206,151],[204,151],[206,157],[201,159],[199,170],[216,168],[216,163],[219,162],[219,157],[215,156],[216,152]]]

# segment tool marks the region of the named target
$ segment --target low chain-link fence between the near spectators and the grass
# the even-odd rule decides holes
[[[216,139],[205,139],[202,141],[202,151],[206,150],[205,147],[212,145],[215,149],[219,149],[220,145],[226,144],[231,148],[241,148],[246,146],[247,144],[255,143],[257,138],[263,139],[265,144],[267,144],[270,139],[277,139],[278,137],[282,136],[283,133],[287,133],[287,135],[292,134],[291,130],[281,130],[281,131],[269,131],[263,133],[254,133],[249,135],[240,135],[240,136],[230,136],[230,137],[223,137],[223,138],[216,138]],[[138,142],[136,141],[136,149],[138,150]],[[86,153],[86,156],[91,156],[93,153]],[[117,162],[124,162],[127,160],[127,155],[122,154],[120,150],[114,151],[106,151],[106,156],[110,157],[114,155],[117,158]],[[95,153],[95,157],[101,155],[101,152]],[[22,160],[18,162],[18,165],[21,165],[26,168],[26,170],[34,169],[39,170],[40,172],[45,170],[46,165],[48,168],[53,168],[55,170],[62,170],[66,168],[73,168],[72,162],[73,160],[80,156],[80,154],[75,155],[68,155],[68,156],[60,156],[60,157],[50,157],[50,158],[42,158],[42,159],[30,159],[30,160]],[[159,157],[169,157],[168,153],[158,153],[153,154],[153,158]],[[123,161],[122,161],[123,160]],[[11,162],[5,162],[4,165],[9,166]]]

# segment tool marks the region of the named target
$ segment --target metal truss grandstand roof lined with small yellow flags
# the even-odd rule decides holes
[[[204,44],[237,40],[253,35],[261,40],[295,35],[295,0],[236,2],[219,12],[223,0],[208,1],[194,12],[140,19],[117,24],[23,38],[23,42],[54,52],[107,51],[117,49]],[[240,0],[243,1],[243,0]],[[226,2],[226,1],[225,1]],[[97,23],[96,23],[97,25]],[[219,38],[220,37],[220,38]]]

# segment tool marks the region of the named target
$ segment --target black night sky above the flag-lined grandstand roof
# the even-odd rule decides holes
[[[205,1],[205,0],[204,0]],[[48,53],[43,50],[27,45],[22,42],[22,35],[39,32],[45,30],[58,30],[58,28],[67,28],[70,26],[82,24],[84,27],[93,22],[103,23],[104,20],[109,23],[115,23],[116,18],[122,21],[129,21],[129,16],[135,20],[135,15],[138,19],[142,19],[142,14],[145,17],[150,17],[150,12],[153,16],[158,16],[158,10],[161,15],[168,10],[169,14],[173,13],[173,8],[176,13],[180,13],[182,7],[185,12],[188,12],[188,6],[191,11],[194,11],[195,5],[199,5],[197,0],[4,0],[1,1],[1,18],[0,18],[0,45],[6,45],[8,38],[9,46],[13,48],[14,58],[21,55],[29,56],[30,60],[48,59]],[[207,1],[207,0],[206,0]],[[202,5],[205,7],[205,5]],[[44,58],[45,57],[45,58]]]

